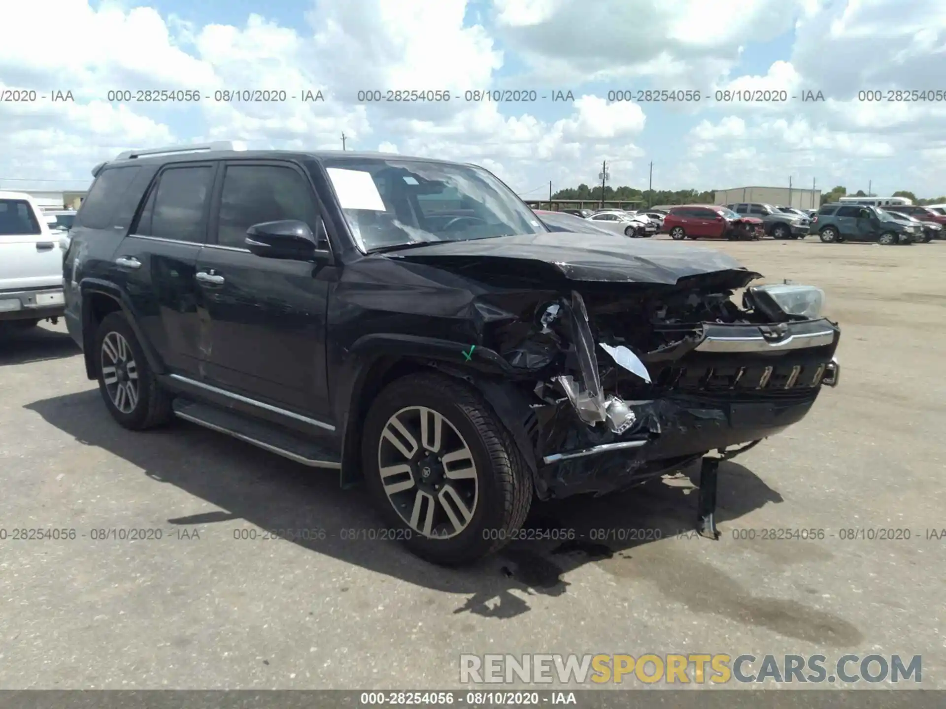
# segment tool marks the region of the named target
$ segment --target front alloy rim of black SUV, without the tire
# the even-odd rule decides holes
[[[479,501],[473,453],[456,426],[427,406],[408,406],[384,424],[377,468],[389,502],[412,530],[449,539],[469,526]]]

